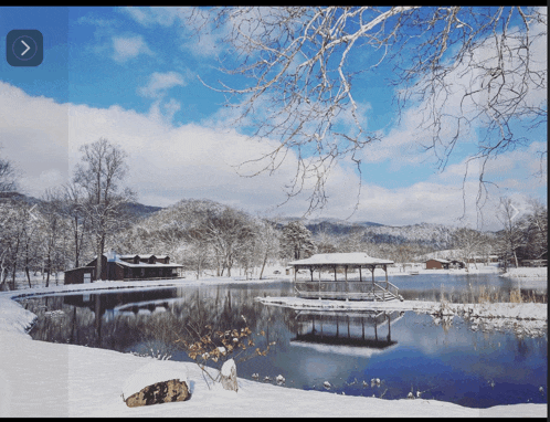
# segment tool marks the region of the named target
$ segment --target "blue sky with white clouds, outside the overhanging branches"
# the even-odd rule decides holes
[[[223,95],[199,80],[214,84],[220,77],[221,34],[191,38],[186,13],[171,8],[0,8],[2,49],[11,29],[38,29],[44,36],[40,66],[12,67],[0,60],[0,155],[21,170],[22,191],[40,197],[66,182],[78,148],[105,137],[128,152],[127,184],[141,203],[166,207],[207,198],[262,215],[306,211],[305,196],[282,205],[296,171],[293,152],[271,176],[246,178],[236,171],[239,163],[275,144],[248,139],[229,124]],[[546,64],[547,48],[539,48]],[[467,163],[475,133],[438,170],[433,152],[423,150],[415,135],[417,110],[394,119],[393,88],[377,77],[361,87],[360,108],[383,138],[364,149],[358,210],[352,213],[359,176],[342,163],[327,182],[328,205],[311,217],[476,226],[479,165]],[[546,95],[536,101],[546,102]],[[547,127],[526,136],[523,146],[487,163],[486,178],[495,184],[485,229],[498,229],[490,207],[500,196],[518,204],[527,197],[547,202],[546,170],[537,176]]]

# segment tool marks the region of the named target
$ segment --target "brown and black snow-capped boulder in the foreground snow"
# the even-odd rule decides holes
[[[136,408],[139,405],[150,405],[170,403],[173,401],[189,400],[189,388],[186,381],[173,379],[169,381],[156,382],[142,388],[139,392],[126,399],[126,405]]]

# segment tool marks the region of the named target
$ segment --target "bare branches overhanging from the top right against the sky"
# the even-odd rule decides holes
[[[544,8],[224,7],[194,9],[188,23],[225,34],[221,70],[233,78],[211,87],[237,109],[235,123],[278,140],[247,176],[274,172],[294,151],[287,194],[311,189],[308,211],[326,204],[330,168],[347,161],[361,175],[366,147],[383,141],[357,101],[369,72],[391,77],[399,110],[421,112],[440,168],[479,133],[469,157],[480,163],[478,205],[487,160],[526,141],[518,128],[547,122]]]

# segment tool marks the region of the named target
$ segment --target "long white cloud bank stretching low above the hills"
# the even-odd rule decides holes
[[[57,104],[50,98],[29,96],[20,88],[0,82],[2,156],[15,161],[24,171],[25,191],[40,197],[44,189],[68,180],[80,159],[82,145],[105,137],[128,152],[127,182],[138,192],[142,203],[168,205],[182,198],[209,198],[253,213],[271,211],[272,214],[302,215],[305,211],[304,200],[308,192],[277,208],[286,198],[285,184],[295,175],[296,156],[293,152],[273,176],[243,178],[236,173],[235,166],[266,154],[276,143],[258,143],[235,130],[215,126],[174,127],[169,118],[179,109],[179,103],[170,99],[165,104],[159,102],[157,107],[159,115],[155,116],[119,106],[94,108]],[[504,154],[503,168],[528,166],[528,157],[538,147],[537,144]],[[258,169],[258,163],[246,168],[248,173]],[[396,189],[363,183],[359,210],[352,220],[394,225],[461,223],[461,170],[458,166],[449,167],[430,180]],[[497,162],[489,170],[498,171]],[[503,183],[510,187],[519,183],[519,193],[528,192],[528,182],[517,180],[511,172],[503,173]],[[332,168],[326,184],[329,203],[322,217],[349,217],[356,204],[357,186],[358,176],[352,166],[341,163]],[[468,198],[465,221],[475,225],[475,178],[466,181],[465,189]]]

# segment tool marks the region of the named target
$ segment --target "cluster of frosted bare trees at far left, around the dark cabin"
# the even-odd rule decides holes
[[[18,171],[0,158],[0,287],[15,288],[18,272],[52,274],[87,263],[104,253],[120,230],[131,224],[127,204],[136,194],[121,187],[126,152],[101,138],[84,145],[72,179],[47,189],[39,201],[17,194]],[[98,268],[101,271],[101,261]],[[101,274],[101,273],[99,273]]]

